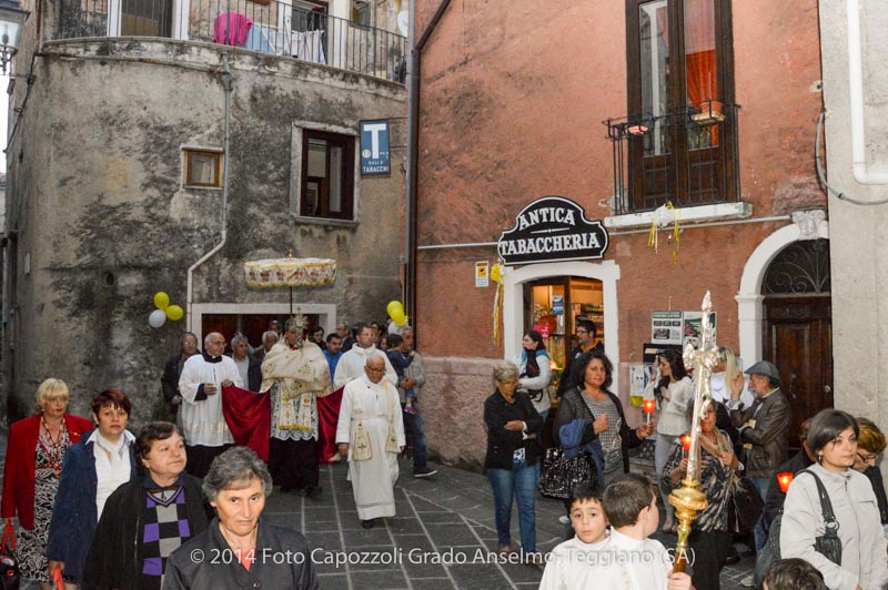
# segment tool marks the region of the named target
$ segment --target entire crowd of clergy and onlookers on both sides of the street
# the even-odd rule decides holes
[[[519,552],[543,569],[541,589],[719,590],[744,532],[735,528],[743,490],[763,507],[751,515],[750,545],[769,564],[745,586],[888,588],[888,501],[877,467],[886,438],[872,421],[825,409],[803,423],[801,448],[789,457],[793,408],[778,368],[761,360],[744,373],[723,347],[699,424],[692,424],[694,389],[682,355],[662,350],[644,391],[656,416],[633,426],[610,390],[614,367],[594,323],[581,318],[576,332],[557,388],[549,388],[544,338],[529,330],[514,360],[495,364],[483,404],[498,552]],[[63,382],[40,385],[38,414],[10,427],[0,503],[7,527],[19,520],[24,578],[44,589],[61,579],[69,590],[317,588],[303,536],[262,517],[273,486],[317,499],[319,466],[347,461],[357,518],[371,529],[395,516],[398,460],[408,446],[413,476],[436,474],[427,466],[425,372],[410,326],[352,332],[341,323],[324,336],[293,317],[272,322],[256,347],[233,334],[225,354],[218,332],[202,344],[183,334],[164,366],[162,394],[175,424],[150,423],[138,435],[127,428],[132,401],[123,391],[98,393],[88,420],[68,414]],[[684,571],[650,536],[676,532],[668,498],[687,477],[682,436],[692,427],[707,507],[694,520]],[[536,502],[546,428],[554,445],[569,439],[595,477],[572,486],[563,520],[569,530],[543,555]],[[646,440],[655,445],[653,481],[629,472],[629,449]],[[190,557],[221,549],[236,559]],[[303,559],[273,567],[256,559],[279,550]]]

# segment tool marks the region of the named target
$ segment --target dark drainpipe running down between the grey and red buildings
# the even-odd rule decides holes
[[[407,87],[407,203],[406,214],[404,220],[404,275],[406,281],[406,288],[404,304],[407,314],[413,317],[414,328],[416,322],[416,199],[418,180],[416,175],[416,167],[418,165],[418,144],[420,144],[420,63],[422,62],[422,52],[428,38],[437,27],[438,21],[444,16],[451,0],[442,0],[438,4],[435,14],[428,22],[422,38],[416,41],[416,1],[410,0],[410,85]]]

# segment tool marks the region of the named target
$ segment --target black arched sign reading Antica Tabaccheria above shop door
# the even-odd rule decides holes
[[[524,207],[497,243],[507,265],[601,258],[607,230],[588,221],[583,207],[563,196],[544,196]]]

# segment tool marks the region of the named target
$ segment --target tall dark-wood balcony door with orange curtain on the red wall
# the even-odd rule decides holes
[[[730,0],[629,0],[628,195],[649,211],[739,199]]]

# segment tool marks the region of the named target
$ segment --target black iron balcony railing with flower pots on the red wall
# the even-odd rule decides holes
[[[614,214],[653,211],[667,201],[675,206],[739,201],[738,109],[714,101],[699,110],[605,121]]]

